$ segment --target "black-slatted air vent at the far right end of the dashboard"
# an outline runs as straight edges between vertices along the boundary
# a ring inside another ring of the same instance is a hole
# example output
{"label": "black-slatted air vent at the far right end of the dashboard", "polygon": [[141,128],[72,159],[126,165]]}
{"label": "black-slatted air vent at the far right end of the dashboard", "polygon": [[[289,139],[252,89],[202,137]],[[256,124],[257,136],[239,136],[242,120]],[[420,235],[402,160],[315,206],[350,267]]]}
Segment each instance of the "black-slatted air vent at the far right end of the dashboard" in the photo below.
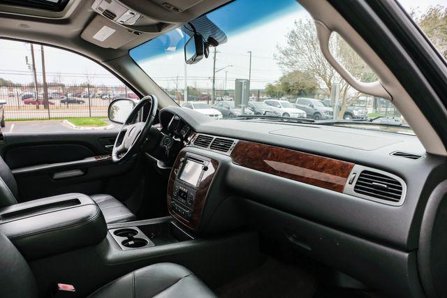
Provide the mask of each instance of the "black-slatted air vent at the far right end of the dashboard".
{"label": "black-slatted air vent at the far right end of the dashboard", "polygon": [[399,202],[402,198],[402,184],[387,175],[363,170],[354,186],[354,192],[380,200]]}

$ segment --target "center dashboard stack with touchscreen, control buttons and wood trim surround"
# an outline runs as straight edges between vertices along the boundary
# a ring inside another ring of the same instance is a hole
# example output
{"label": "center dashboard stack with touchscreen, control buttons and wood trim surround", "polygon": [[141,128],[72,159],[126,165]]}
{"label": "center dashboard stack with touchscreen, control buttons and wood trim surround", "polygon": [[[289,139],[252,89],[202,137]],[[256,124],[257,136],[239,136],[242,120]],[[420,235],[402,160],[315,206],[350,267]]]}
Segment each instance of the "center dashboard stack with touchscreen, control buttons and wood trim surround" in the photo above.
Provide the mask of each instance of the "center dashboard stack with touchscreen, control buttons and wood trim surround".
{"label": "center dashboard stack with touchscreen, control buttons and wood trim surround", "polygon": [[219,162],[191,152],[180,152],[168,182],[168,210],[195,230]]}

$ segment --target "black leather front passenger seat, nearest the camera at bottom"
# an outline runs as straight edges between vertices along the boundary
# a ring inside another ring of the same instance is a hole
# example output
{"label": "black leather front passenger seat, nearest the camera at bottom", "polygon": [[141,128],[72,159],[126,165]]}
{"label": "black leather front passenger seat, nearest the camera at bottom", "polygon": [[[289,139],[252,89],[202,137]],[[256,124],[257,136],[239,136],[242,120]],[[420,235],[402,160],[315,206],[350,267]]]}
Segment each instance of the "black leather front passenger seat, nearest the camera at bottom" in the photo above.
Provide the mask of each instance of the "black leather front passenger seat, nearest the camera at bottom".
{"label": "black leather front passenger seat, nearest the camera at bottom", "polygon": [[[0,297],[38,297],[36,280],[17,248],[0,233]],[[188,269],[159,263],[135,270],[94,292],[89,297],[216,297]]]}

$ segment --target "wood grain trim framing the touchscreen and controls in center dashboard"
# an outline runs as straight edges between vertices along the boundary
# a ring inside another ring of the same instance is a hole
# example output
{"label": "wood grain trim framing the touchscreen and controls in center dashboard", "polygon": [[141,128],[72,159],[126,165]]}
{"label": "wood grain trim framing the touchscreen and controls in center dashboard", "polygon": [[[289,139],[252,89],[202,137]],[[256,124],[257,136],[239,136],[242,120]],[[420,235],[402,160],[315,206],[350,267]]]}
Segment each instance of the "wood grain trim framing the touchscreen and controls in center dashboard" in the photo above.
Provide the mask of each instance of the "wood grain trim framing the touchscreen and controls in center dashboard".
{"label": "wood grain trim framing the touchscreen and controls in center dashboard", "polygon": [[214,174],[216,174],[217,167],[219,167],[219,162],[216,161],[215,159],[211,159],[211,162],[208,164],[208,169],[203,173],[202,181],[200,181],[200,184],[196,190],[196,198],[194,200],[194,207],[193,207],[193,216],[191,218],[191,221],[186,221],[181,216],[175,214],[170,205],[174,193],[175,169],[179,169],[180,159],[184,156],[186,156],[186,152],[182,151],[179,153],[177,159],[175,160],[173,170],[170,172],[168,182],[168,195],[167,195],[168,211],[170,215],[177,218],[178,221],[186,225],[188,228],[196,230],[196,228],[198,227],[198,223],[200,222],[200,216],[202,215],[203,207],[205,206],[207,193],[210,188],[212,179],[214,178]]}

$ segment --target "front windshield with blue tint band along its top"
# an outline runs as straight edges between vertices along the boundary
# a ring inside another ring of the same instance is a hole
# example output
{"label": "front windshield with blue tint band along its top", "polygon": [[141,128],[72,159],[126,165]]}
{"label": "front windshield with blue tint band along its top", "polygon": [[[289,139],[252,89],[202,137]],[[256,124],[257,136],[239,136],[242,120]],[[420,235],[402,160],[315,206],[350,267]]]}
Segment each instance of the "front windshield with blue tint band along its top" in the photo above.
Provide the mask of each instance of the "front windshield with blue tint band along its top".
{"label": "front windshield with blue tint band along its top", "polygon": [[[203,40],[214,38],[219,45],[209,47],[207,58],[186,64],[184,45],[194,29]],[[356,79],[378,80],[336,33],[330,38],[330,50]],[[251,114],[245,108],[249,103],[281,100],[280,109],[296,107],[316,125],[356,122],[351,127],[384,131],[390,131],[384,126],[407,127],[390,100],[358,92],[330,66],[319,50],[314,20],[295,0],[235,0],[134,47],[129,54],[179,105],[200,102],[219,110],[225,106],[215,104],[225,100],[241,114]],[[313,105],[300,105],[297,98],[309,98]],[[321,100],[327,100],[331,110],[318,109],[325,107]],[[221,112],[223,119],[234,118]],[[291,117],[286,111],[276,114]],[[250,121],[272,121],[253,116]],[[372,121],[377,125],[362,126]]]}

